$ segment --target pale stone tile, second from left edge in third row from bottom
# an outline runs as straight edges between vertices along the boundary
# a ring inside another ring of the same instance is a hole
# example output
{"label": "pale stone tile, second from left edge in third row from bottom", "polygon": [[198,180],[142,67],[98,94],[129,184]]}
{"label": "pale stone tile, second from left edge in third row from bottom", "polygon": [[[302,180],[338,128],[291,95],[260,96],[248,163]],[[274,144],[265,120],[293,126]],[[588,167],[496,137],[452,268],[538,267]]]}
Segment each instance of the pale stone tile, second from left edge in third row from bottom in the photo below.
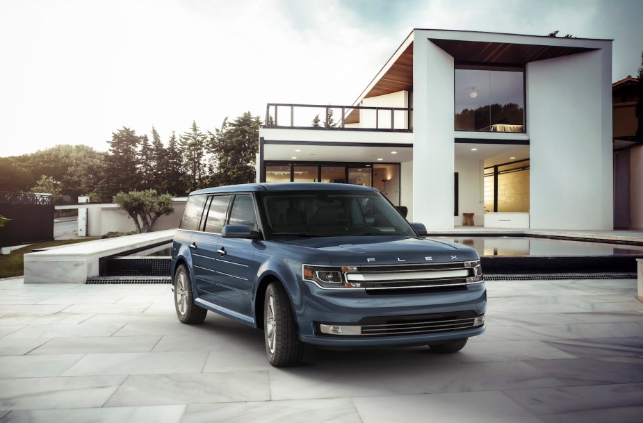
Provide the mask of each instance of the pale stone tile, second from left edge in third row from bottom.
{"label": "pale stone tile, second from left edge in third row from bottom", "polygon": [[206,352],[87,354],[63,376],[200,373]]}

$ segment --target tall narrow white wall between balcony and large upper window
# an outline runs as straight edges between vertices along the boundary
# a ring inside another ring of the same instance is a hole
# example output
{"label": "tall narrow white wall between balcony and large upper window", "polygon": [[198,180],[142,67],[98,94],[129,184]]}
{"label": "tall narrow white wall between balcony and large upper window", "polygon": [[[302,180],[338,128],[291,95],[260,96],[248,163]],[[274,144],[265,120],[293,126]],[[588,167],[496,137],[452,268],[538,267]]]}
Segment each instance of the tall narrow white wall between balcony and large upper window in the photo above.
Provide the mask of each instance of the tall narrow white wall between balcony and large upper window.
{"label": "tall narrow white wall between balcony and large upper window", "polygon": [[413,218],[453,229],[453,57],[416,31],[413,44]]}

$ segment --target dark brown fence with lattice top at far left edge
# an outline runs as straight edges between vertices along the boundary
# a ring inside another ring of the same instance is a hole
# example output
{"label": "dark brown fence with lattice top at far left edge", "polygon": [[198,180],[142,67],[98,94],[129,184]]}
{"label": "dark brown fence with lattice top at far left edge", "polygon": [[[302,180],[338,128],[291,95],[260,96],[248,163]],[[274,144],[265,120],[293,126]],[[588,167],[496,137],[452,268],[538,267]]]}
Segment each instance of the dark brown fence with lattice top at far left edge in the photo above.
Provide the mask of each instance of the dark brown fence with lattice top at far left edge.
{"label": "dark brown fence with lattice top at far left edge", "polygon": [[51,195],[0,191],[0,215],[11,219],[0,228],[0,247],[54,239]]}

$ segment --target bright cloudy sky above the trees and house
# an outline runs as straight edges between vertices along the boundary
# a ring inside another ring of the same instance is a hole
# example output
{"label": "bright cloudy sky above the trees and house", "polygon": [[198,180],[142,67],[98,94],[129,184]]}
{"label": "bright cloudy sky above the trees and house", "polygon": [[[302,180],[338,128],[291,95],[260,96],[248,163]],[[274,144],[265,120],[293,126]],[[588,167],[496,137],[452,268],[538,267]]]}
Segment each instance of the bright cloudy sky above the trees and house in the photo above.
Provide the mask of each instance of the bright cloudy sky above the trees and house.
{"label": "bright cloudy sky above the trees and house", "polygon": [[352,104],[413,28],[612,39],[618,81],[641,22],[643,0],[0,0],[0,157]]}

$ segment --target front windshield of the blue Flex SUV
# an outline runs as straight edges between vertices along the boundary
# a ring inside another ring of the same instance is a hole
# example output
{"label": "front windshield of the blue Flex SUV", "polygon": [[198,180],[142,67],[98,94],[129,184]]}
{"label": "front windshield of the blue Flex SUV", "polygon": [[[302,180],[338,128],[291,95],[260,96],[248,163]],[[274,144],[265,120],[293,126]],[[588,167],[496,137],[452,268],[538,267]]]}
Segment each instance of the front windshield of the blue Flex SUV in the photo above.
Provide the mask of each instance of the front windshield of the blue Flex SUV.
{"label": "front windshield of the blue Flex SUV", "polygon": [[268,237],[416,235],[379,192],[263,192],[260,198]]}

